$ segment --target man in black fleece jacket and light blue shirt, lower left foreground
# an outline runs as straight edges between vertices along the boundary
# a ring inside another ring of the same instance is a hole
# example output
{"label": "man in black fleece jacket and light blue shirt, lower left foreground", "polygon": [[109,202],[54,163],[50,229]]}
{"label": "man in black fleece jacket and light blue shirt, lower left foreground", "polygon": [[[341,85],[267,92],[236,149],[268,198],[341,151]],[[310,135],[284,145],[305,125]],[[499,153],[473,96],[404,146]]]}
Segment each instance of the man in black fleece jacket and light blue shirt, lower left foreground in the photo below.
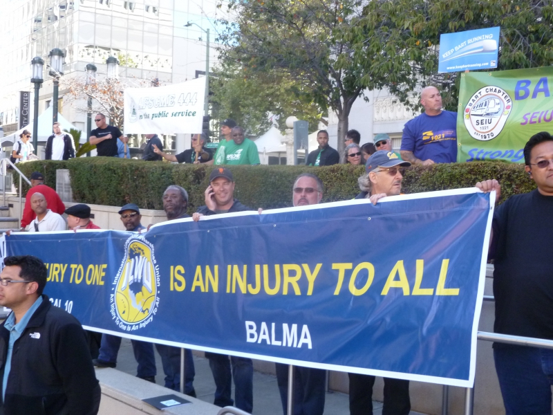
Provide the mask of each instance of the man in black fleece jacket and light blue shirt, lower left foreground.
{"label": "man in black fleece jacket and light blue shirt, lower left foreground", "polygon": [[81,324],[46,295],[46,266],[30,255],[6,257],[0,305],[0,413],[95,415],[100,385]]}

